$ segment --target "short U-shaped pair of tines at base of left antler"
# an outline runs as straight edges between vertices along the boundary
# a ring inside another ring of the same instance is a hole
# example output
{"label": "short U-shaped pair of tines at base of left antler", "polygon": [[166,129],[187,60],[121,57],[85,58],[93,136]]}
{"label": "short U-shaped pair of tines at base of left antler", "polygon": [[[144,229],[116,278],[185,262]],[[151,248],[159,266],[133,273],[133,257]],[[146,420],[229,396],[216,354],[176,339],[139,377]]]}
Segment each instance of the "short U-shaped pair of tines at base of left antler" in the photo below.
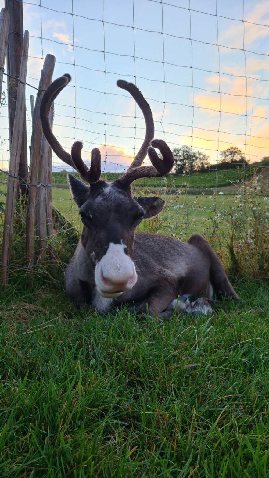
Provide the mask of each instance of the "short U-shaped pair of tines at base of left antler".
{"label": "short U-shaped pair of tines at base of left antler", "polygon": [[81,158],[82,147],[83,144],[80,141],[76,141],[71,149],[71,156],[75,169],[78,171],[81,179],[87,183],[97,183],[101,176],[101,153],[98,148],[92,150],[89,169]]}

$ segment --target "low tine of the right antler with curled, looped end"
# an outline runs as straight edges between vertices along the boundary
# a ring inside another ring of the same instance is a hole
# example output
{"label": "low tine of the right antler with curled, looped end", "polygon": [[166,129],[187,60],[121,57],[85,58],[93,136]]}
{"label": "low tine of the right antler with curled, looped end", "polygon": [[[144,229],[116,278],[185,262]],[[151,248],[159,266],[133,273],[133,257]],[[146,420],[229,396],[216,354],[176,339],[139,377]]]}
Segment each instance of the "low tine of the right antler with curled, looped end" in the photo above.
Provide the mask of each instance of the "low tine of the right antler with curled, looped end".
{"label": "low tine of the right antler with curled, looped end", "polygon": [[165,176],[165,174],[168,174],[171,171],[174,165],[174,157],[167,143],[163,140],[153,140],[151,145],[160,151],[163,159],[158,157],[157,152],[153,147],[148,148],[147,153],[152,166],[140,166],[133,169],[129,168],[121,178],[114,181],[115,184],[130,185],[136,179]]}

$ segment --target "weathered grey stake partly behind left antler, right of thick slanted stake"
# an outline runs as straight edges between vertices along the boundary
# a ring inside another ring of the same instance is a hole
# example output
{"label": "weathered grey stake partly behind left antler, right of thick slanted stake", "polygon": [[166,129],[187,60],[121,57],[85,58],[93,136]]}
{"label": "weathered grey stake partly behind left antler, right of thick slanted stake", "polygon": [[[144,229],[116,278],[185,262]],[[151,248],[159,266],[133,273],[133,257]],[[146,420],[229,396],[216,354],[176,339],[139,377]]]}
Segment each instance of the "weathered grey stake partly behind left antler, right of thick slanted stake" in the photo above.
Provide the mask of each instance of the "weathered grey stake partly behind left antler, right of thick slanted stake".
{"label": "weathered grey stake partly behind left antler, right of thick slanted stake", "polygon": [[[49,122],[52,126],[53,121],[53,106],[49,112]],[[50,155],[50,161],[49,161]],[[50,164],[49,164],[50,163]],[[51,147],[44,134],[42,135],[41,148],[40,148],[40,160],[39,160],[39,174],[38,179],[40,181],[40,187],[36,193],[36,235],[39,237],[38,259],[41,259],[45,252],[45,239],[48,236],[47,226],[47,206],[48,204],[48,190],[51,192],[51,182],[48,183],[48,171],[51,169]],[[50,174],[51,178],[51,174]],[[50,207],[52,209],[52,207]],[[52,212],[51,212],[52,215]]]}

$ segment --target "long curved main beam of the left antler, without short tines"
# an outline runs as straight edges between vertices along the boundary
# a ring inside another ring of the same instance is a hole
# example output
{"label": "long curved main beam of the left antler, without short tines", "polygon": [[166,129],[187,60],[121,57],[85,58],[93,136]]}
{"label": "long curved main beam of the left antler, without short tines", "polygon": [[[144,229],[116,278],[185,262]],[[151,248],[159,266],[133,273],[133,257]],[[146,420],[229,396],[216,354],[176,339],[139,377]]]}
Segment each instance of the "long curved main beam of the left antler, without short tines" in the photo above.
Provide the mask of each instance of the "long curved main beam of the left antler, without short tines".
{"label": "long curved main beam of the left antler, without short tines", "polygon": [[41,105],[40,105],[40,119],[41,119],[44,136],[46,140],[49,142],[55,154],[57,154],[57,156],[64,163],[67,163],[68,166],[71,166],[72,168],[76,169],[72,161],[71,155],[68,152],[66,152],[60,145],[59,141],[56,140],[56,137],[54,136],[52,132],[49,118],[48,118],[49,111],[53,101],[58,96],[58,94],[62,91],[62,89],[68,85],[69,81],[71,81],[71,76],[68,73],[66,73],[63,76],[60,76],[60,78],[57,78],[46,89],[41,101]]}

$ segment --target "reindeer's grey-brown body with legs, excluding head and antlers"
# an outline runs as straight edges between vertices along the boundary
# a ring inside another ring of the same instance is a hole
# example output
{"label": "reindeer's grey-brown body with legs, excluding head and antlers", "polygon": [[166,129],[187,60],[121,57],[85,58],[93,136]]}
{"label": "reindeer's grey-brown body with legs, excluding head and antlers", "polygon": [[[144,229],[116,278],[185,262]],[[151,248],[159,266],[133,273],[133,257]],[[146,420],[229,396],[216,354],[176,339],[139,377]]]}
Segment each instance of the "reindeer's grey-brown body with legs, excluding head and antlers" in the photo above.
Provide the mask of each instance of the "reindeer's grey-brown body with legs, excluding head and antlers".
{"label": "reindeer's grey-brown body with legs, excluding head and antlers", "polygon": [[[132,260],[138,276],[136,284],[113,300],[103,299],[109,301],[106,310],[119,304],[138,303],[140,311],[168,318],[174,310],[169,305],[179,295],[212,299],[213,293],[219,293],[238,299],[221,262],[202,236],[194,235],[189,242],[181,242],[157,234],[135,233]],[[79,241],[65,276],[67,294],[79,305],[94,302],[94,267]],[[200,307],[203,314],[204,305],[211,312],[210,305],[202,300],[196,304],[189,302],[185,312],[194,314]],[[181,308],[177,312],[182,311]]]}

